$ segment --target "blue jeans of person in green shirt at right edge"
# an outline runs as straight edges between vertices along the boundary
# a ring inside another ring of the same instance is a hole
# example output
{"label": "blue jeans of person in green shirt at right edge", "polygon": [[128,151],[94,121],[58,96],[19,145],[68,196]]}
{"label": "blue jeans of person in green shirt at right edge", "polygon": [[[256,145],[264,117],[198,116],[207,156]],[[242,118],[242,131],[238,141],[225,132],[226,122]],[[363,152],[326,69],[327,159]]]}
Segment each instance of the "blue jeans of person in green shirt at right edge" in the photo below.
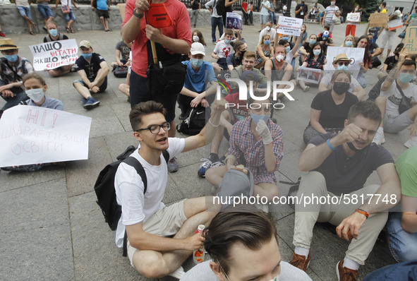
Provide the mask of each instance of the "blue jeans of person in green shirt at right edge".
{"label": "blue jeans of person in green shirt at right edge", "polygon": [[389,213],[387,221],[389,250],[399,263],[417,259],[417,232],[409,233],[401,227],[401,212]]}

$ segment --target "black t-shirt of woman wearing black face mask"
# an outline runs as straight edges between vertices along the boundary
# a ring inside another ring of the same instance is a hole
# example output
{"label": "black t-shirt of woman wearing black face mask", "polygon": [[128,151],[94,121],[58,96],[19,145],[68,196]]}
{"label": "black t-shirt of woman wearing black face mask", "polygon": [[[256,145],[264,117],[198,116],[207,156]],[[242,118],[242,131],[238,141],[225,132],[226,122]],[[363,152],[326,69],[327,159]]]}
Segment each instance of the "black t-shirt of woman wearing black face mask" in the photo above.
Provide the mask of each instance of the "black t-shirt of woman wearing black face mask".
{"label": "black t-shirt of woman wearing black face mask", "polygon": [[346,92],[341,104],[334,103],[332,90],[325,90],[315,95],[311,108],[321,110],[319,123],[323,128],[343,128],[349,109],[359,102],[358,97],[351,92]]}

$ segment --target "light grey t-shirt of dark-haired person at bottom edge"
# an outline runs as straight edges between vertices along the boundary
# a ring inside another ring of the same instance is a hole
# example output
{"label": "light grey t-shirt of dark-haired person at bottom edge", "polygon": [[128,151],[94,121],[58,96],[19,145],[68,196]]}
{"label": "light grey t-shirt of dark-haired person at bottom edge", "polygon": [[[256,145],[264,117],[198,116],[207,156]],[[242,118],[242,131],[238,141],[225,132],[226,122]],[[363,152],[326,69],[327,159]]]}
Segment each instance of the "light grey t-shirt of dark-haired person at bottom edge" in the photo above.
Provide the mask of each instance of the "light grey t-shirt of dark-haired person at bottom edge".
{"label": "light grey t-shirt of dark-haired person at bottom edge", "polygon": [[[219,281],[212,272],[210,261],[195,265],[181,278],[180,281]],[[281,274],[279,281],[310,281],[311,278],[303,270],[296,268],[285,261],[281,262]]]}

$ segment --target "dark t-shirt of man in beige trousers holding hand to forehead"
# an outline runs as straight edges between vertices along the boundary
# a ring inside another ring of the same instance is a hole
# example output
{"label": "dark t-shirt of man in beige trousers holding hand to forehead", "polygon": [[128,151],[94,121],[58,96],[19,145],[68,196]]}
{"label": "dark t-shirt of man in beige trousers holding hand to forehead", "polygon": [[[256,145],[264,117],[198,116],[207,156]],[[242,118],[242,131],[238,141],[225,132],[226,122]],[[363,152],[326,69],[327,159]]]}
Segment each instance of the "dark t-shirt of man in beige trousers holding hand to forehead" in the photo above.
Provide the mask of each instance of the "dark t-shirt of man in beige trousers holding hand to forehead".
{"label": "dark t-shirt of man in beige trousers holding hand to forehead", "polygon": [[[333,136],[334,133],[320,133],[309,143],[318,146]],[[340,196],[342,193],[362,189],[370,174],[387,163],[394,163],[394,159],[381,145],[370,143],[353,157],[348,157],[344,153],[343,145],[339,145],[322,165],[313,171],[320,172],[325,177],[327,191]]]}

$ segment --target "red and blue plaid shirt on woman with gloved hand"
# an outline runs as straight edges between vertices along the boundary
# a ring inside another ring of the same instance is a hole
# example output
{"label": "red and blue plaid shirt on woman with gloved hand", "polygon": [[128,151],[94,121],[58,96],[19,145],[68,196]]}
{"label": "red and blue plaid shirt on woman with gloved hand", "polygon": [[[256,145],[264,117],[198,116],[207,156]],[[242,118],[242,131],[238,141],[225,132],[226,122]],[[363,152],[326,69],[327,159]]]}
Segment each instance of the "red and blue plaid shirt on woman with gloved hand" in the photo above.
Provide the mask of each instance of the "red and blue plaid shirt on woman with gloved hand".
{"label": "red and blue plaid shirt on woman with gloved hand", "polygon": [[[256,141],[255,136],[250,131],[251,118],[238,121],[231,128],[230,132],[230,147],[229,155],[234,155],[237,160],[244,157],[246,160],[246,167],[253,173],[255,184],[260,182],[277,183],[274,172],[268,172],[265,166],[265,148],[262,139]],[[276,170],[279,168],[282,156],[284,155],[284,142],[281,127],[269,122],[273,150],[275,159],[277,160]],[[236,163],[239,164],[239,163]],[[273,182],[271,182],[273,180]]]}

